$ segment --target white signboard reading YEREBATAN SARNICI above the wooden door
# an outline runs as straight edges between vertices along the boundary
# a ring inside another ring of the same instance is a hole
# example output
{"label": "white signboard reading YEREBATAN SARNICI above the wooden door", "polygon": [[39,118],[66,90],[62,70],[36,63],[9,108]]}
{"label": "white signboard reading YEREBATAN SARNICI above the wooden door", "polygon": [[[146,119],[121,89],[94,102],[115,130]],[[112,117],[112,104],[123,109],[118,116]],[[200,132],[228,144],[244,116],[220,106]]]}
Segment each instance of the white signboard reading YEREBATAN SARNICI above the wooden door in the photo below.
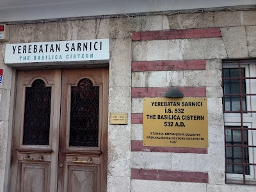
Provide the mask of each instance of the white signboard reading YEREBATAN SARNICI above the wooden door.
{"label": "white signboard reading YEREBATAN SARNICI above the wooden door", "polygon": [[6,44],[4,63],[109,60],[109,39]]}

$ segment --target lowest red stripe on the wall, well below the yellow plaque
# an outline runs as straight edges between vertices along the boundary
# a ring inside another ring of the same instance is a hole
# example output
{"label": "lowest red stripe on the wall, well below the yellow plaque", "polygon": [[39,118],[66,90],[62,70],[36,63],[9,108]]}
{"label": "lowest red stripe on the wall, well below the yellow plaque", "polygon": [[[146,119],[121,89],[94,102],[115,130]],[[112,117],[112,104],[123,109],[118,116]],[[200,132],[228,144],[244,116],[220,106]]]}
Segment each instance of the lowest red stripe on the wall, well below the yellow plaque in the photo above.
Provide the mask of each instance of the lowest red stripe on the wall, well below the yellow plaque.
{"label": "lowest red stripe on the wall, well below the yellow plaque", "polygon": [[179,182],[209,182],[208,173],[182,172],[173,170],[147,170],[131,168],[131,179],[141,180],[168,180]]}

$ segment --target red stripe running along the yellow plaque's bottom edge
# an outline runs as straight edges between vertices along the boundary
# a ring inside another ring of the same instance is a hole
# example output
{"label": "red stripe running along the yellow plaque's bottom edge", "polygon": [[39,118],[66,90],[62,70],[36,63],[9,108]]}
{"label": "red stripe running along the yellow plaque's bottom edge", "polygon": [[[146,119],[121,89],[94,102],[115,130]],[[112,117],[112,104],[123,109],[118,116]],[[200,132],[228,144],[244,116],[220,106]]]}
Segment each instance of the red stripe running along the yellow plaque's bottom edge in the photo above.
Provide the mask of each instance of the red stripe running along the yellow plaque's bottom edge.
{"label": "red stripe running along the yellow plaque's bottom edge", "polygon": [[143,141],[131,141],[131,151],[143,152],[169,152],[184,154],[207,154],[207,148],[189,148],[189,147],[150,147],[143,146]]}

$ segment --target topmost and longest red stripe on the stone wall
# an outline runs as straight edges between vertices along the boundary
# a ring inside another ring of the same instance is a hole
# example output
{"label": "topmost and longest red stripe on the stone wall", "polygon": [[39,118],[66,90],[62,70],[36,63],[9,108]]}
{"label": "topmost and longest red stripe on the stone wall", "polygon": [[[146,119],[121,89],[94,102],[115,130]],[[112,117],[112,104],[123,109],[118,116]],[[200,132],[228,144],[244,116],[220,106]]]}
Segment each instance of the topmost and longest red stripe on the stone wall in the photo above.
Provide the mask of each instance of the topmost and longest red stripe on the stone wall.
{"label": "topmost and longest red stripe on the stone wall", "polygon": [[140,31],[132,33],[132,40],[170,40],[184,38],[221,37],[220,28],[178,29],[166,31]]}

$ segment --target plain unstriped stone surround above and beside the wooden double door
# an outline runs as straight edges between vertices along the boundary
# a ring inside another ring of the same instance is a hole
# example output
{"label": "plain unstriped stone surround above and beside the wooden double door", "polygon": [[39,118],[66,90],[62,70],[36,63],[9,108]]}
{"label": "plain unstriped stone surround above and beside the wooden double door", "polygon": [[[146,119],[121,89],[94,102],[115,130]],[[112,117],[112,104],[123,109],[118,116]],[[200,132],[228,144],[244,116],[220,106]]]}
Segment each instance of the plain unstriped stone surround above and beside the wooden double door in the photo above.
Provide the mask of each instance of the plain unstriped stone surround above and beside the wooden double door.
{"label": "plain unstriped stone surround above and beside the wooden double door", "polygon": [[10,25],[10,42],[0,42],[0,68],[4,69],[0,84],[0,191],[8,191],[10,186],[11,95],[15,93],[15,68],[4,64],[5,45],[95,38],[110,39],[108,113],[128,114],[128,125],[108,125],[108,191],[131,190],[131,31],[134,30],[140,31],[140,24],[127,18]]}

